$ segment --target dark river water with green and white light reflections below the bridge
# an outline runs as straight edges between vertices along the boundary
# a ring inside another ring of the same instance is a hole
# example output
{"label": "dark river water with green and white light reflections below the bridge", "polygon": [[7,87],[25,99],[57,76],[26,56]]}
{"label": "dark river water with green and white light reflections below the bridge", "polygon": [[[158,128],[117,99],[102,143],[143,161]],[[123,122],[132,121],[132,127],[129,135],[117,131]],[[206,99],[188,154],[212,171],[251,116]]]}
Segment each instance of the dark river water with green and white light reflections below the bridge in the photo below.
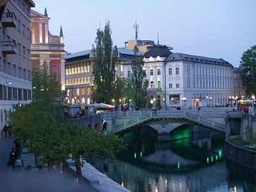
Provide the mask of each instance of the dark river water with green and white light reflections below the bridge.
{"label": "dark river water with green and white light reflections below the bridge", "polygon": [[128,147],[118,161],[95,166],[131,191],[256,191],[253,180],[234,173],[229,162],[233,170],[227,170],[220,132],[195,125],[153,136],[147,130],[148,136],[136,130],[125,134]]}

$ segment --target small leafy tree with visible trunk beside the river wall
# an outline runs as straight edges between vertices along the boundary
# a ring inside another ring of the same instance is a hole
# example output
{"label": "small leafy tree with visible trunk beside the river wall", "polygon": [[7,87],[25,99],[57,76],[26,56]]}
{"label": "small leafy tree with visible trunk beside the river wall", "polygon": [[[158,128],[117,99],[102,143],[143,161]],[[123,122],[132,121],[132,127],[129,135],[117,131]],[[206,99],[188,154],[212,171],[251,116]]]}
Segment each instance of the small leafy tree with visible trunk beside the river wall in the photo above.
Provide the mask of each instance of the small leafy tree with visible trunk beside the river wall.
{"label": "small leafy tree with visible trunk beside the river wall", "polygon": [[125,148],[116,134],[105,136],[101,132],[80,128],[75,124],[69,124],[68,130],[70,130],[70,138],[67,140],[67,147],[76,164],[79,180],[82,180],[81,166],[85,161],[96,161],[99,157],[115,159],[115,154]]}

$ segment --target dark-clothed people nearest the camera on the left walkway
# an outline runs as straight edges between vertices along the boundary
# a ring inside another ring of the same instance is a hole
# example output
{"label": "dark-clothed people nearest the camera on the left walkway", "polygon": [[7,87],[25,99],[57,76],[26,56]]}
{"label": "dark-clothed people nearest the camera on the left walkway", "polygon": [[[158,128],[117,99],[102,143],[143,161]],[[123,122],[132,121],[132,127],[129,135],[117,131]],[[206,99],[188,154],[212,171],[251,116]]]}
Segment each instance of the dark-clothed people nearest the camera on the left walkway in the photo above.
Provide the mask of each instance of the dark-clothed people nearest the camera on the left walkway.
{"label": "dark-clothed people nearest the camera on the left walkway", "polygon": [[15,170],[16,168],[17,170],[20,170],[20,168],[22,168],[23,166],[22,160],[20,159],[21,145],[19,140],[17,139],[15,139],[13,143],[15,144],[15,147],[13,147],[10,152],[7,166],[8,167],[12,166],[12,170]]}

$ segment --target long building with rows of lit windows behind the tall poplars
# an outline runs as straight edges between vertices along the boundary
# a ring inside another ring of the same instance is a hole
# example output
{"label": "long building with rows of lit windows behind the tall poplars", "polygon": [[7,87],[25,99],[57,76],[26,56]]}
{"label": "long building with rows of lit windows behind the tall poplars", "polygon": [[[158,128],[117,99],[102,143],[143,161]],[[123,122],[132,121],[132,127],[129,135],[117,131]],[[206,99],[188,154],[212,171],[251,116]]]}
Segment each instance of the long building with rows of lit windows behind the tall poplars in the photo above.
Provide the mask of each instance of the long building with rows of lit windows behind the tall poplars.
{"label": "long building with rows of lit windows behind the tall poplars", "polygon": [[[131,63],[134,52],[118,48],[116,76],[124,77],[125,63]],[[65,58],[65,77],[68,104],[90,104],[92,102],[92,50],[76,52]]]}

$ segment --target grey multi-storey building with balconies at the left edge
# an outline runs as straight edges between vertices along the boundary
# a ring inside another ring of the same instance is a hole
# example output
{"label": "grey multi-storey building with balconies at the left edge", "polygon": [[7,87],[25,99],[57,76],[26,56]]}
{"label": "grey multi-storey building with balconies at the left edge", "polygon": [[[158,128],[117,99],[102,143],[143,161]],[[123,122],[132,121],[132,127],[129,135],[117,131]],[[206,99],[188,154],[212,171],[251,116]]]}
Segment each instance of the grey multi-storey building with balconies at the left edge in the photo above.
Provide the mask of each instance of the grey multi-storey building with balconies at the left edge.
{"label": "grey multi-storey building with balconies at the left edge", "polygon": [[0,22],[0,129],[8,112],[31,102],[31,32],[29,0],[6,3]]}

